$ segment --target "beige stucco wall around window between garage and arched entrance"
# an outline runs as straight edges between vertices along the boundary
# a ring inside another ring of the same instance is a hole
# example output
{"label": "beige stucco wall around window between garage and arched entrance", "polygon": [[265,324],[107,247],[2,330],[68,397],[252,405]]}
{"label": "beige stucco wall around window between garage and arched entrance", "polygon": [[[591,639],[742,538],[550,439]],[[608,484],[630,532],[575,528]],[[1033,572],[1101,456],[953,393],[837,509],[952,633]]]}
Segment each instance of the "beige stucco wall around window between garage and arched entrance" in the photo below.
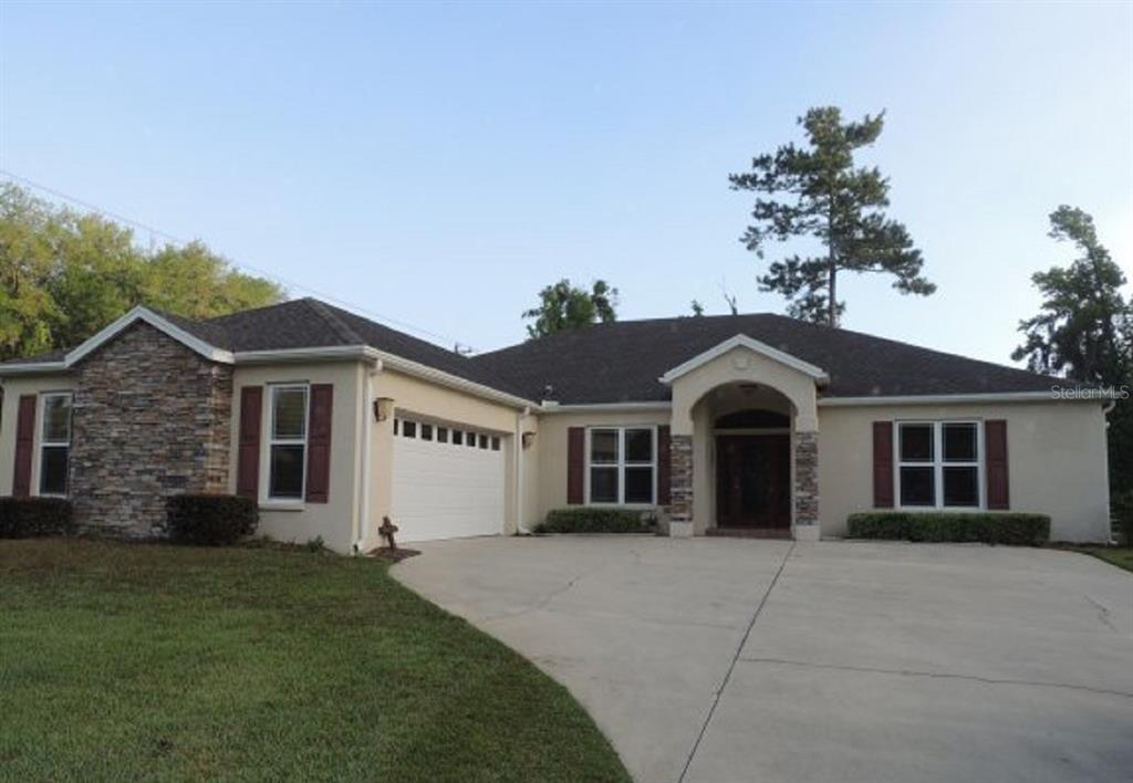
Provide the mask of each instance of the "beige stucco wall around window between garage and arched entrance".
{"label": "beige stucco wall around window between garage and arched entrance", "polygon": [[547,511],[566,505],[566,432],[571,427],[598,427],[668,424],[668,410],[634,410],[546,414],[539,418],[539,434],[536,437],[537,470],[530,475],[536,477],[534,487],[536,502],[531,510],[534,517],[525,520],[533,525],[543,521]]}

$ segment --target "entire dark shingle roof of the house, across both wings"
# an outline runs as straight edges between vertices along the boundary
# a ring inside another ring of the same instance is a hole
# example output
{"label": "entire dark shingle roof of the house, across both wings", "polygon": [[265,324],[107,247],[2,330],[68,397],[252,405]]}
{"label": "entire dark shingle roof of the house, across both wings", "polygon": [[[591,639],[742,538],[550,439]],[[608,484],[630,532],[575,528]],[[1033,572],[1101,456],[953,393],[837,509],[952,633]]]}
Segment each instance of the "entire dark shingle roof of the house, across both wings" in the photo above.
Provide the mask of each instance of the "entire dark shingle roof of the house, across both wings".
{"label": "entire dark shingle roof of the house, across both wings", "polygon": [[[233,352],[366,344],[499,391],[562,405],[667,400],[670,390],[658,377],[736,334],[826,371],[825,397],[1048,391],[1051,383],[1021,369],[766,313],[596,324],[476,357],[309,298],[207,321],[162,316]],[[15,361],[60,360],[65,354]]]}

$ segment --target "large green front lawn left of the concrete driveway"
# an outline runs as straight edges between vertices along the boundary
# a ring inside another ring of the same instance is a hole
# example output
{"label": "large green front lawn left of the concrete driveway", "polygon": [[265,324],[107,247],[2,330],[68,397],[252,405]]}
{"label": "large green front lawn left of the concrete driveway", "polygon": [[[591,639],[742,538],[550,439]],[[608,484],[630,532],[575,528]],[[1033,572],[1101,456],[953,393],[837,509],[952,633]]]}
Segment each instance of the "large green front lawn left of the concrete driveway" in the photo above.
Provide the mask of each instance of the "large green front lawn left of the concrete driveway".
{"label": "large green front lawn left of the concrete driveway", "polygon": [[628,781],[564,688],[369,560],[0,542],[0,778]]}

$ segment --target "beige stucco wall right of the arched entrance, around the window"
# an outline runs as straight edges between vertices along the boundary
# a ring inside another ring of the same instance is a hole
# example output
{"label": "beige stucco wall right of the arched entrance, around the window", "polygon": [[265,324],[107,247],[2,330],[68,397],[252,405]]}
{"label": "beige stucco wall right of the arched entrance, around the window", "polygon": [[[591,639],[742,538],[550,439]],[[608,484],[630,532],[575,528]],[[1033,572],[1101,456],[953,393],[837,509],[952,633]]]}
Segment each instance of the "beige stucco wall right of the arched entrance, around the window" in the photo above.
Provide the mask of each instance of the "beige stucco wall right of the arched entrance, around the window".
{"label": "beige stucco wall right of the arched entrance, around the window", "polygon": [[1006,419],[1013,511],[1050,514],[1056,541],[1108,541],[1106,422],[1097,402],[819,407],[819,518],[824,536],[874,502],[872,423]]}

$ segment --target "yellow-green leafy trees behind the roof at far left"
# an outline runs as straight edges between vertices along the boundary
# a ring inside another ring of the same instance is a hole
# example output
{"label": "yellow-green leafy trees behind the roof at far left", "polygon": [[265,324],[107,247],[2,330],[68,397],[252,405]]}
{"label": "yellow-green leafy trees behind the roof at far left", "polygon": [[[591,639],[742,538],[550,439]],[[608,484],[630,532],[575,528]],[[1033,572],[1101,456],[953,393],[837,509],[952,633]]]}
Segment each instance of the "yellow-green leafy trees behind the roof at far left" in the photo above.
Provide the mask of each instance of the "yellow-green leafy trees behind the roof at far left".
{"label": "yellow-green leafy trees behind the roof at far left", "polygon": [[146,252],[113,221],[0,182],[0,359],[76,346],[138,304],[204,318],[283,298],[201,242]]}

